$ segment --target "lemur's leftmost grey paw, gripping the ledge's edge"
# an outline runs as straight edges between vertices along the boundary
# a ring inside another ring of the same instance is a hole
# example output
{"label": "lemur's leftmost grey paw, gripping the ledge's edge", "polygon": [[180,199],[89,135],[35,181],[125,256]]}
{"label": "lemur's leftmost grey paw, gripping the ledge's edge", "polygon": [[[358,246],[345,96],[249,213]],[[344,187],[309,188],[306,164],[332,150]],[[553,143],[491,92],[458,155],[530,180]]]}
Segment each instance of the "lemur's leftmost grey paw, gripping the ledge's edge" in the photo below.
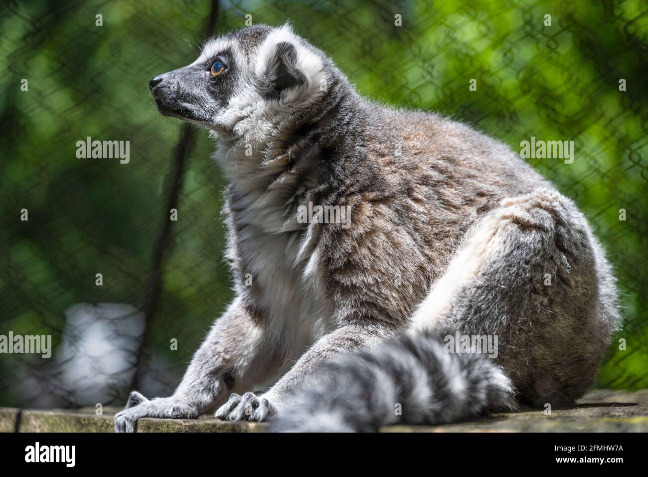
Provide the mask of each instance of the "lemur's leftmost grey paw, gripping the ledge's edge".
{"label": "lemur's leftmost grey paw, gripping the ledge's edge", "polygon": [[198,417],[198,410],[173,397],[150,400],[137,391],[132,391],[124,410],[115,414],[115,432],[135,432],[135,424],[142,417],[194,419]]}

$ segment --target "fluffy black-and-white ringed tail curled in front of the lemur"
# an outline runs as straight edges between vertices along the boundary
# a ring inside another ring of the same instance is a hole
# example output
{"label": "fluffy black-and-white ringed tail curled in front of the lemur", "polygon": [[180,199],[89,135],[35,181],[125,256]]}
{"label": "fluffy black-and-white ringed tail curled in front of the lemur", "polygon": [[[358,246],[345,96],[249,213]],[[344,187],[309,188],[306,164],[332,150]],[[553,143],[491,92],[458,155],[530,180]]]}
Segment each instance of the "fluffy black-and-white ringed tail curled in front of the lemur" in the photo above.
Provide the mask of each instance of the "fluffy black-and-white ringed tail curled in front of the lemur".
{"label": "fluffy black-and-white ringed tail curled in front of the lemur", "polygon": [[449,353],[438,334],[401,336],[322,365],[272,432],[372,432],[515,408],[513,385],[480,353]]}

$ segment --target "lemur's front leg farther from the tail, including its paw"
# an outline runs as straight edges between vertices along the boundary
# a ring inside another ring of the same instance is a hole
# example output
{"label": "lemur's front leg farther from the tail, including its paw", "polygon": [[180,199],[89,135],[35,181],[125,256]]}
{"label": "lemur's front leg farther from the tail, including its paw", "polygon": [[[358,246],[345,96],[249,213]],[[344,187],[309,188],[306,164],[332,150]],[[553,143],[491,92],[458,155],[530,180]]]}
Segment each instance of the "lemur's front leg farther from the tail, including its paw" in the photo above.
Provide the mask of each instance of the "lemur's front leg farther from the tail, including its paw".
{"label": "lemur's front leg farther from the tail, including its paw", "polygon": [[235,300],[216,320],[174,395],[147,399],[130,393],[115,415],[116,432],[134,432],[142,417],[195,418],[214,409],[231,391],[249,389],[276,371],[264,323]]}

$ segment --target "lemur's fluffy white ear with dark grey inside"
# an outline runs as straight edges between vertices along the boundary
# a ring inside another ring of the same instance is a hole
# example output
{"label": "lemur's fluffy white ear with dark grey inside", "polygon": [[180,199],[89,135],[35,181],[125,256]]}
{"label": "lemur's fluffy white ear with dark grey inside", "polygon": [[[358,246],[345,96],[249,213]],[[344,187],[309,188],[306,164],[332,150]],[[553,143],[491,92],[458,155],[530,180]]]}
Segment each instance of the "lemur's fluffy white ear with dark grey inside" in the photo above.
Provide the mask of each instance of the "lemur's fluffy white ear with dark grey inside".
{"label": "lemur's fluffy white ear with dark grey inside", "polygon": [[268,35],[256,63],[263,97],[294,106],[316,98],[324,82],[321,57],[284,25]]}

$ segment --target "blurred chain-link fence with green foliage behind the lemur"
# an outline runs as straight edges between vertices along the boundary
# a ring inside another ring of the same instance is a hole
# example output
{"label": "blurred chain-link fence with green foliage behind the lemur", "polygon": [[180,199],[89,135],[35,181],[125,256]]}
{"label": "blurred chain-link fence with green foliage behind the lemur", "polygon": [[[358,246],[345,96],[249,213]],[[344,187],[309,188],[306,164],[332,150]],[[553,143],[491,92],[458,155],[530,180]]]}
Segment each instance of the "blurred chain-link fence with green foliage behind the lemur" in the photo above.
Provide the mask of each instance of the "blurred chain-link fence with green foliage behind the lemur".
{"label": "blurred chain-link fence with green foliage behind the lemur", "polygon": [[[0,405],[121,405],[128,389],[178,384],[231,299],[225,182],[207,134],[160,117],[148,79],[246,19],[292,21],[373,99],[515,150],[573,140],[572,164],[529,162],[579,203],[616,267],[624,327],[599,384],[647,387],[648,5],[579,4],[5,3],[0,335],[51,336],[52,356],[0,354]],[[128,163],[79,158],[87,138],[130,141]]]}

